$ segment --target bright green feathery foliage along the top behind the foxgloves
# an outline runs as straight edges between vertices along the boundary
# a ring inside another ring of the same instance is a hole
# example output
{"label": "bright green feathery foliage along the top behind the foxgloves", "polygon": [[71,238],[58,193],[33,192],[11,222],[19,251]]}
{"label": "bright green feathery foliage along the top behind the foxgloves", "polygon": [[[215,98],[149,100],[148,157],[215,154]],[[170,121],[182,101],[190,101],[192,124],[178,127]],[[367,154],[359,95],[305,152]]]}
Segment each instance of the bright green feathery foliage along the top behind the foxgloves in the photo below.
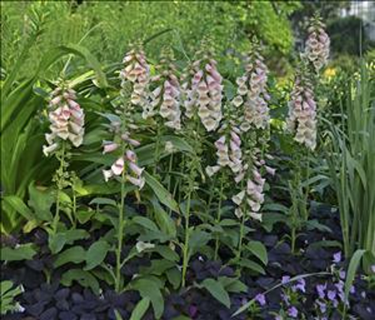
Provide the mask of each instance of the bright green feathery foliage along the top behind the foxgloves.
{"label": "bright green feathery foliage along the top behind the foxgloves", "polygon": [[[204,36],[218,53],[247,50],[257,35],[273,55],[291,52],[288,16],[298,2],[1,2],[1,67],[6,71],[20,53],[35,24],[41,33],[20,76],[30,74],[43,54],[57,45],[80,44],[102,63],[120,61],[130,42],[172,29],[152,41],[147,52],[159,56],[163,45],[192,58]],[[51,72],[61,70],[63,62]],[[75,68],[74,64],[71,68]]]}

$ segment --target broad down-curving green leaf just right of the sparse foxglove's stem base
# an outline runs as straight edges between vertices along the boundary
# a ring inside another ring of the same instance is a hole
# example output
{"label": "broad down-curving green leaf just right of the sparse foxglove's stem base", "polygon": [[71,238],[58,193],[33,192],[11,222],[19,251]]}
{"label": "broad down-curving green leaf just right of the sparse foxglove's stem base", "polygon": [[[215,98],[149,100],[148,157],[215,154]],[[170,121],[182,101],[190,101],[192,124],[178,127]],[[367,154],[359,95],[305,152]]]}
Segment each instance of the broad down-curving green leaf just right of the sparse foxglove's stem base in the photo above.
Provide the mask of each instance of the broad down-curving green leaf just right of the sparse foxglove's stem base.
{"label": "broad down-curving green leaf just right of the sparse foxglove's stem base", "polygon": [[159,285],[151,279],[136,279],[132,288],[138,290],[142,298],[148,297],[154,309],[155,318],[159,319],[164,311],[164,300]]}

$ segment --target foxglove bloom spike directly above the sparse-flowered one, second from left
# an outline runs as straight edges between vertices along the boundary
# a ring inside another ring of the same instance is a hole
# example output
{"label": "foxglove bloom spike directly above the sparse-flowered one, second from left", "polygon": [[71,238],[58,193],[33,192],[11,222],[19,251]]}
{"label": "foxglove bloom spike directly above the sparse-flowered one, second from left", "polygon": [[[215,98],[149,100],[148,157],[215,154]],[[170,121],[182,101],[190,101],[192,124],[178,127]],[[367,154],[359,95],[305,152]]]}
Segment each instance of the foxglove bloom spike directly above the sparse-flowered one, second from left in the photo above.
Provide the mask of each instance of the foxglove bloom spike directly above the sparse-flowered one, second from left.
{"label": "foxglove bloom spike directly above the sparse-flowered one, second from left", "polygon": [[148,84],[150,82],[150,66],[142,50],[132,49],[125,54],[124,68],[120,72],[121,86],[127,81],[133,84],[131,102],[142,107],[144,118],[153,115],[152,105],[148,103]]}

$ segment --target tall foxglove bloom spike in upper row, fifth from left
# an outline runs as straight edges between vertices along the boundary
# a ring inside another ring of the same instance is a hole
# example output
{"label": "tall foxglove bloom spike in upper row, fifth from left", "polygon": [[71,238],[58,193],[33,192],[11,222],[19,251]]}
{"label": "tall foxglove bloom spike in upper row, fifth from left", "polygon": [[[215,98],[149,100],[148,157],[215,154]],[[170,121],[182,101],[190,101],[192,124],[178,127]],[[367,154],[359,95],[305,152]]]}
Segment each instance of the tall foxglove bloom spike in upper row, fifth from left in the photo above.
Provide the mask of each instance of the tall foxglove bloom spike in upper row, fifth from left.
{"label": "tall foxglove bloom spike in upper row, fifth from left", "polygon": [[243,108],[240,128],[244,132],[248,131],[251,125],[257,129],[265,129],[270,120],[267,104],[270,96],[266,89],[268,69],[257,50],[246,57],[245,71],[245,74],[236,80],[237,96],[232,100],[235,107]]}

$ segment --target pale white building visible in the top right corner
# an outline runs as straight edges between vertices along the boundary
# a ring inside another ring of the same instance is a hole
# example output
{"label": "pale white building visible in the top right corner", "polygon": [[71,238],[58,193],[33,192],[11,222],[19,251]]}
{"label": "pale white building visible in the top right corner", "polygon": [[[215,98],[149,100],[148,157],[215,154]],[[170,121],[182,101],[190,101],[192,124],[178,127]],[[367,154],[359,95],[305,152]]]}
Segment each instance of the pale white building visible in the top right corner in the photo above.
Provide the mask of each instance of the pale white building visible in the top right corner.
{"label": "pale white building visible in the top right corner", "polygon": [[341,17],[353,15],[363,20],[366,35],[375,41],[375,1],[351,1],[347,8],[341,9]]}

